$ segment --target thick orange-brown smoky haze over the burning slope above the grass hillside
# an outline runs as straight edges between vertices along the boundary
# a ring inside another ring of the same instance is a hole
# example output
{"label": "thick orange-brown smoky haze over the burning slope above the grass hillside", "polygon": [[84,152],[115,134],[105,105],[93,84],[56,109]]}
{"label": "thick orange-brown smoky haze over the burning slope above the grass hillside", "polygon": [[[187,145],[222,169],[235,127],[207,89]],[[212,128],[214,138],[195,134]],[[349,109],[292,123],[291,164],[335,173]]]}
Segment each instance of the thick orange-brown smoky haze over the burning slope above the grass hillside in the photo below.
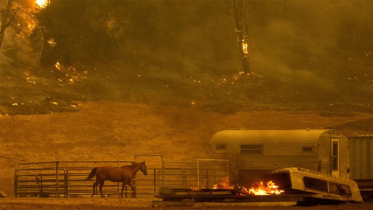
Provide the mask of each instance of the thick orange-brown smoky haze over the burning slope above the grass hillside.
{"label": "thick orange-brown smoky haze over the burning slope above the grass hillside", "polygon": [[[249,72],[242,70],[232,1],[52,0],[36,17],[45,41],[57,44],[45,44],[42,70],[30,72],[53,82],[46,88],[36,79],[32,88],[157,104],[372,102],[372,1],[247,2]],[[4,40],[12,50],[14,28]],[[0,58],[2,75],[24,72],[23,56],[3,49]]]}

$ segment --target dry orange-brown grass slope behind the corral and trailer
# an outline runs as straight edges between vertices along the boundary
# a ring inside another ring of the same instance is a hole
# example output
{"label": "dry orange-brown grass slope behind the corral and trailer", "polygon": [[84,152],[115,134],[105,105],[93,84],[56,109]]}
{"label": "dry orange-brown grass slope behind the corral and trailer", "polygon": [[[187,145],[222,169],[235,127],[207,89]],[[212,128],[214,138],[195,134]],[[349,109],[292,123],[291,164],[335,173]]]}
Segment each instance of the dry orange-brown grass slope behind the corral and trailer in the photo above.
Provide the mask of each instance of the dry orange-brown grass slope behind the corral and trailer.
{"label": "dry orange-brown grass slope behind the corral and trailer", "polygon": [[132,160],[163,154],[165,161],[208,158],[211,136],[224,129],[340,128],[373,134],[373,114],[325,116],[317,112],[245,111],[222,114],[197,107],[88,102],[77,112],[0,117],[0,183],[13,195],[16,163],[55,160]]}

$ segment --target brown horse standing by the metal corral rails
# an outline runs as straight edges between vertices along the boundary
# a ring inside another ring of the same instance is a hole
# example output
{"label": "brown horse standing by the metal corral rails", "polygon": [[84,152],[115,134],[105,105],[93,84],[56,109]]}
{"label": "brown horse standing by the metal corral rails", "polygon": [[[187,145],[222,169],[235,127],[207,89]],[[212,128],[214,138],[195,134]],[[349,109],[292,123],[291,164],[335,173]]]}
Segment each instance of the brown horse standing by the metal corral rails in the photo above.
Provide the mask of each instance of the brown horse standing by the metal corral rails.
{"label": "brown horse standing by the metal corral rails", "polygon": [[121,167],[102,166],[93,168],[87,178],[87,180],[91,180],[96,175],[96,182],[93,183],[93,193],[91,197],[93,197],[93,195],[95,194],[95,190],[97,189],[98,184],[100,184],[101,197],[104,197],[104,195],[102,194],[102,186],[104,185],[105,180],[109,180],[112,182],[122,182],[122,191],[120,193],[120,197],[123,198],[123,189],[126,184],[131,187],[134,192],[134,196],[136,197],[136,189],[133,187],[132,179],[139,170],[143,172],[144,175],[148,174],[145,161]]}

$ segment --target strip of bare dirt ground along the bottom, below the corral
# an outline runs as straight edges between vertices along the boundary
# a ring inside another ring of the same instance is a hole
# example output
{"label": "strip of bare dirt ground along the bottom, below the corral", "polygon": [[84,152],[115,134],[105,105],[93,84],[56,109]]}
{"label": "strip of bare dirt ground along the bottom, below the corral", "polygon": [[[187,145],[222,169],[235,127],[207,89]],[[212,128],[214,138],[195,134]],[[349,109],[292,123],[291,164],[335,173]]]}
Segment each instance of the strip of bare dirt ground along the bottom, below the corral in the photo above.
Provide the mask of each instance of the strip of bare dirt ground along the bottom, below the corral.
{"label": "strip of bare dirt ground along the bottom, below the corral", "polygon": [[[339,205],[300,206],[290,203],[193,203],[161,202],[156,198],[102,199],[102,198],[4,198],[0,210],[104,210],[104,209],[255,209],[255,210],[372,210],[373,202],[344,203]],[[260,206],[266,205],[266,206]]]}

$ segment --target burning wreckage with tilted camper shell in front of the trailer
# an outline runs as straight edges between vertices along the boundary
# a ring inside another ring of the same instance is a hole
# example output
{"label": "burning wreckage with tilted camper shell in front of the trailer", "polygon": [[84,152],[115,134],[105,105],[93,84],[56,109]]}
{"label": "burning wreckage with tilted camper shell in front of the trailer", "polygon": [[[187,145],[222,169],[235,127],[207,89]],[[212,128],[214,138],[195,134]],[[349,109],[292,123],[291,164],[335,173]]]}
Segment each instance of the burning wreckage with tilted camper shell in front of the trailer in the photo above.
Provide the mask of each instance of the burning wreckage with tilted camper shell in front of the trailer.
{"label": "burning wreckage with tilted camper shell in front of the trailer", "polygon": [[303,168],[272,171],[263,182],[249,190],[244,186],[230,186],[227,183],[222,183],[214,189],[162,187],[156,197],[162,198],[163,201],[195,202],[363,201],[355,181]]}

